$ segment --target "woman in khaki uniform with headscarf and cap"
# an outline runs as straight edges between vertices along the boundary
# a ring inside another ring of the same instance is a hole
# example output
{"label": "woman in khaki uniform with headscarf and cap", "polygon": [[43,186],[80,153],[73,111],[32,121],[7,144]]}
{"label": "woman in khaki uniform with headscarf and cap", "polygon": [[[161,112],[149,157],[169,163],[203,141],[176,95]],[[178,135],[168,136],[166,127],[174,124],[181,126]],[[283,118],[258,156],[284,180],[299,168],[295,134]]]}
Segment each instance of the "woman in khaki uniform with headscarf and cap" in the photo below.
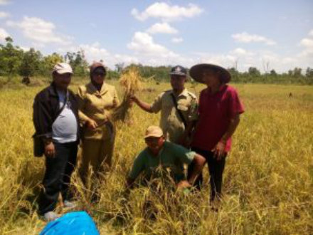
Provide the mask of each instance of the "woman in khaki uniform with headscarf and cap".
{"label": "woman in khaki uniform with headscarf and cap", "polygon": [[80,176],[84,184],[90,167],[99,177],[112,164],[115,127],[111,115],[119,100],[115,87],[105,83],[106,74],[102,63],[92,63],[90,83],[78,88],[79,117],[83,123]]}

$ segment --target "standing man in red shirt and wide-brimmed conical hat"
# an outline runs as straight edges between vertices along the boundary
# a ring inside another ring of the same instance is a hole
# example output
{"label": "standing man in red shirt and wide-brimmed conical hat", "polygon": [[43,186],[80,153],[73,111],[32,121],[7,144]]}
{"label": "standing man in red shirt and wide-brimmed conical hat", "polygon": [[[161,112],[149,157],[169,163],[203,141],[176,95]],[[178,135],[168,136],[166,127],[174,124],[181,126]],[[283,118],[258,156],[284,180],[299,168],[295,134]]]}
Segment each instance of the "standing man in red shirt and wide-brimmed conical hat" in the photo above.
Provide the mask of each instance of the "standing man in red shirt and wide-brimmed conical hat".
{"label": "standing man in red shirt and wide-brimmed conical hat", "polygon": [[[223,170],[230,151],[231,136],[244,110],[235,88],[227,85],[230,73],[225,68],[203,63],[193,66],[189,73],[191,78],[207,85],[200,94],[191,149],[206,157],[208,162],[212,202],[216,197],[221,197]],[[192,168],[191,165],[188,172]],[[202,181],[201,174],[196,181],[198,188]]]}

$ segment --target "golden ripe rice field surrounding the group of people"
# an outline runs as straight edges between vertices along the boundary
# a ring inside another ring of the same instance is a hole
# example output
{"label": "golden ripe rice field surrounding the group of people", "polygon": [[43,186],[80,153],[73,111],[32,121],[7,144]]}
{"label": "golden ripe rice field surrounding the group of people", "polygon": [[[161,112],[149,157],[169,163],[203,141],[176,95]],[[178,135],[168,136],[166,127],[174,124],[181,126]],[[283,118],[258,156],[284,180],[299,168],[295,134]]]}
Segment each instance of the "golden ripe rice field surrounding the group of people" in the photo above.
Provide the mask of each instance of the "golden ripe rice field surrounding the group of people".
{"label": "golden ripe rice field surrounding the group of people", "polygon": [[[73,90],[85,82],[74,78]],[[119,83],[113,85],[122,98]],[[170,88],[142,86],[139,98],[147,102]],[[196,93],[203,88],[186,86]],[[208,185],[191,194],[166,182],[156,182],[157,189],[124,190],[132,161],[145,146],[144,130],[159,122],[159,115],[134,105],[132,122],[117,123],[113,167],[96,182],[99,203],[91,203],[92,192],[73,175],[78,209],[89,212],[101,234],[313,234],[313,87],[234,86],[245,113],[226,160],[219,211],[208,207]],[[36,212],[44,159],[33,157],[31,140],[33,98],[43,87],[0,89],[0,234],[38,234],[46,224]],[[65,212],[61,206],[57,211]]]}

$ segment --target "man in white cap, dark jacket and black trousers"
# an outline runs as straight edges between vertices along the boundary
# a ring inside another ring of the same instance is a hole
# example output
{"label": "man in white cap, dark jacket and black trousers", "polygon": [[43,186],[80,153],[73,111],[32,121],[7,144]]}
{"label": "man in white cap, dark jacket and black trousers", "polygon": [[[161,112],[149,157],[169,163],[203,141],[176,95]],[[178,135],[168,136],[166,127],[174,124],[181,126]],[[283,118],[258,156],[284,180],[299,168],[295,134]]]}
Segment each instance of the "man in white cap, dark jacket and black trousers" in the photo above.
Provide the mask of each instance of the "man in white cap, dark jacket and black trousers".
{"label": "man in white cap, dark jacket and black trousers", "polygon": [[39,214],[47,221],[58,217],[53,210],[59,194],[65,207],[74,206],[70,202],[69,184],[76,164],[79,122],[75,94],[68,90],[72,74],[68,63],[57,63],[52,72],[53,82],[36,95],[33,103],[34,155],[46,156]]}

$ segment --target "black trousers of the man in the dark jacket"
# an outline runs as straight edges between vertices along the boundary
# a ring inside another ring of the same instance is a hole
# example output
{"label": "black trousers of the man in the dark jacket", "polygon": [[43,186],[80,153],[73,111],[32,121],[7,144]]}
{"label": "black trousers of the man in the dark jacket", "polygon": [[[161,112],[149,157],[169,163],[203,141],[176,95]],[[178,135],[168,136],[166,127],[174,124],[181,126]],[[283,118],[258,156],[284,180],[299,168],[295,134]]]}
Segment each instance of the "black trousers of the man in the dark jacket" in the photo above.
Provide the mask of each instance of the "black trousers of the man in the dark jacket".
{"label": "black trousers of the man in the dark jacket", "polygon": [[61,194],[63,201],[71,199],[69,192],[70,175],[76,165],[78,143],[54,143],[55,157],[46,157],[46,172],[43,190],[39,196],[39,213],[45,214],[55,209]]}

